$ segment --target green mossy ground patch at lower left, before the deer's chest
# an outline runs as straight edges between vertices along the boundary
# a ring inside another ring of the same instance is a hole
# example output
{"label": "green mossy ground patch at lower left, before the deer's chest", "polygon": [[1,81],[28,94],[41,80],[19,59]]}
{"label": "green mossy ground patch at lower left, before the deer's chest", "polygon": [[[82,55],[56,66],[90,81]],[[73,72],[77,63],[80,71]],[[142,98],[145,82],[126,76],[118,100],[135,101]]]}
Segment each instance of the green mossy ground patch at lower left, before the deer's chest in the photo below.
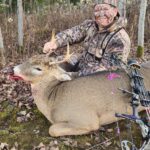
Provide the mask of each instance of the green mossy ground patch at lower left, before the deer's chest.
{"label": "green mossy ground patch at lower left, before the deer's chest", "polygon": [[[0,141],[6,142],[11,146],[15,142],[20,145],[20,149],[33,149],[33,146],[39,145],[41,141],[49,142],[48,128],[49,122],[46,118],[36,109],[33,108],[35,115],[34,120],[18,123],[17,113],[20,111],[18,108],[11,108],[11,105],[4,103],[5,109],[0,112]],[[36,134],[34,130],[39,130]]]}

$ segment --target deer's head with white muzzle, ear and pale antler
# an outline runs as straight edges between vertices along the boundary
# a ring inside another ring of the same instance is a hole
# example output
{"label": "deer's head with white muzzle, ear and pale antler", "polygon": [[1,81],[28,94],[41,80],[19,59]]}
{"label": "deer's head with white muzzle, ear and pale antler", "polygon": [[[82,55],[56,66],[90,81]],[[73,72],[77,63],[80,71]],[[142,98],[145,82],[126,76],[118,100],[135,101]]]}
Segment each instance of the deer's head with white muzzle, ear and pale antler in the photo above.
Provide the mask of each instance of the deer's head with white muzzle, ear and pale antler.
{"label": "deer's head with white muzzle, ear and pale antler", "polygon": [[[67,52],[68,53],[68,52]],[[31,84],[42,79],[68,81],[72,79],[72,72],[67,72],[61,67],[68,59],[68,55],[63,60],[54,56],[36,55],[28,61],[14,68],[14,75],[23,78]]]}

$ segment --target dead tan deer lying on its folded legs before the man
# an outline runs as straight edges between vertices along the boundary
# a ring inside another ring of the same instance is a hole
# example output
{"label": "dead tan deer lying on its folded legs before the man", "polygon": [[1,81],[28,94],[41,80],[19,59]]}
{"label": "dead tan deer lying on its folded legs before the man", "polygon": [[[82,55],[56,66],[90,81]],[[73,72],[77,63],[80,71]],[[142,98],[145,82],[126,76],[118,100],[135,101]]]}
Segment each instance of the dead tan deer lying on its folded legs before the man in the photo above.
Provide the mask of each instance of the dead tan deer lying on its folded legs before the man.
{"label": "dead tan deer lying on its folded legs before the man", "polygon": [[[52,123],[51,136],[86,134],[115,122],[116,112],[131,113],[131,97],[118,90],[130,91],[124,71],[117,71],[120,77],[111,81],[107,71],[72,79],[63,63],[38,55],[14,68],[15,75],[30,81],[38,109]],[[150,61],[143,65],[141,74],[146,89],[150,89]]]}

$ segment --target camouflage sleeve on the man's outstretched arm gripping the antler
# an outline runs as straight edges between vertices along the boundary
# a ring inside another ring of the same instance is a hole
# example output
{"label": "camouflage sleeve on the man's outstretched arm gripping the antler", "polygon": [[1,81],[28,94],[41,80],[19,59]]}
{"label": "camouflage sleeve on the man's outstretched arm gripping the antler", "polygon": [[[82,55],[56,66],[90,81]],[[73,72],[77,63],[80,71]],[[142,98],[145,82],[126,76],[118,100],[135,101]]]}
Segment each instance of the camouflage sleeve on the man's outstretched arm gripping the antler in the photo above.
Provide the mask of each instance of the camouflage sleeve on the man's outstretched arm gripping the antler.
{"label": "camouflage sleeve on the man's outstretched arm gripping the antler", "polygon": [[92,20],[85,20],[80,25],[58,33],[56,35],[58,47],[66,46],[67,42],[69,42],[69,44],[74,44],[83,41],[92,23]]}

